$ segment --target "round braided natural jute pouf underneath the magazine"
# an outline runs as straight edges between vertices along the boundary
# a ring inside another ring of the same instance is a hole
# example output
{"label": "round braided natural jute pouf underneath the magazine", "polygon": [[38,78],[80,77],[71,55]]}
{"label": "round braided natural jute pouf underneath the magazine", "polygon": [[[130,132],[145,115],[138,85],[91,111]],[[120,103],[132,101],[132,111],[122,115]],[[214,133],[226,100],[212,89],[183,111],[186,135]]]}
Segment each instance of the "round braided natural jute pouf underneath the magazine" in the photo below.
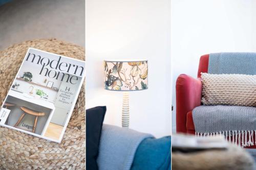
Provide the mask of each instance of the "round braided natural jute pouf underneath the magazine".
{"label": "round braided natural jute pouf underneath the magazine", "polygon": [[[10,46],[0,52],[0,104],[29,47],[84,60],[84,48],[56,39],[38,39]],[[85,89],[79,93],[61,143],[0,127],[0,169],[84,169]]]}

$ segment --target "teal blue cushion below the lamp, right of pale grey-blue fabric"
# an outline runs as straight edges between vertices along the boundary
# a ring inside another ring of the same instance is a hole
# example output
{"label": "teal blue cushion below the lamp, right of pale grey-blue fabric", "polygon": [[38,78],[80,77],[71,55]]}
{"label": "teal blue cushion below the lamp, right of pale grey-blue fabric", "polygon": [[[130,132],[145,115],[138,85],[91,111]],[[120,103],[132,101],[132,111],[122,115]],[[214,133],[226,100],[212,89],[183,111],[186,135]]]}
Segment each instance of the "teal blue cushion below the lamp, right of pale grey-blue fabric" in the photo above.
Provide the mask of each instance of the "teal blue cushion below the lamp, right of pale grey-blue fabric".
{"label": "teal blue cushion below the lamp, right of pale grey-blue fabric", "polygon": [[170,169],[170,136],[144,139],[135,154],[132,170]]}

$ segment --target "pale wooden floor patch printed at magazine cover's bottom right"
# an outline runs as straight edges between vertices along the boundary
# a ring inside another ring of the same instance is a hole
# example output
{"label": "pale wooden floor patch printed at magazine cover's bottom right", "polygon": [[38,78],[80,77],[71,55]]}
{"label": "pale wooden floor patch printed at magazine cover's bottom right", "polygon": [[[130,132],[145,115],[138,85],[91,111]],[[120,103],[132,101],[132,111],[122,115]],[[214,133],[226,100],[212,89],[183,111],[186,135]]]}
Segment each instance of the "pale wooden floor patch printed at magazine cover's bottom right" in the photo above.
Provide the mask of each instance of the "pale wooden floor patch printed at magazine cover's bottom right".
{"label": "pale wooden floor patch printed at magazine cover's bottom right", "polygon": [[49,123],[49,126],[46,130],[46,133],[45,133],[45,137],[49,137],[51,139],[58,140],[60,135],[61,135],[61,132],[62,132],[63,128],[64,128],[63,126],[53,124],[53,123]]}

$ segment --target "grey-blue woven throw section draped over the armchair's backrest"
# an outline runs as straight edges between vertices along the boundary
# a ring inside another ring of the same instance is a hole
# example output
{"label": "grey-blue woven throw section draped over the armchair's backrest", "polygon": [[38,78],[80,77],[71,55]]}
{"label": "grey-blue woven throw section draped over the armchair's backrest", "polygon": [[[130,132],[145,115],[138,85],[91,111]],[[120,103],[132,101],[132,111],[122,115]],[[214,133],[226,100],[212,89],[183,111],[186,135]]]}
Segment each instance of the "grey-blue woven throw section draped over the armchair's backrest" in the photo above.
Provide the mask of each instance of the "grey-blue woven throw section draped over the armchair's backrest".
{"label": "grey-blue woven throw section draped over the armchair's backrest", "polygon": [[256,53],[212,53],[208,73],[256,75]]}

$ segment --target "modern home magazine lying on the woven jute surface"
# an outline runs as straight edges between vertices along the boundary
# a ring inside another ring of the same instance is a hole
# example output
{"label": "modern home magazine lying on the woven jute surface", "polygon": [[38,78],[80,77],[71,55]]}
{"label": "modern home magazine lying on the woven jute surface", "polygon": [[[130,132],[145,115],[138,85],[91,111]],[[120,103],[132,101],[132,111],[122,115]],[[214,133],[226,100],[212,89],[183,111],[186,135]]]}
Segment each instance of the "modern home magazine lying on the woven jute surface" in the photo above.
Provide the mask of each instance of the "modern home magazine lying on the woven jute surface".
{"label": "modern home magazine lying on the woven jute surface", "polygon": [[0,110],[0,125],[60,142],[85,77],[85,61],[29,48]]}

